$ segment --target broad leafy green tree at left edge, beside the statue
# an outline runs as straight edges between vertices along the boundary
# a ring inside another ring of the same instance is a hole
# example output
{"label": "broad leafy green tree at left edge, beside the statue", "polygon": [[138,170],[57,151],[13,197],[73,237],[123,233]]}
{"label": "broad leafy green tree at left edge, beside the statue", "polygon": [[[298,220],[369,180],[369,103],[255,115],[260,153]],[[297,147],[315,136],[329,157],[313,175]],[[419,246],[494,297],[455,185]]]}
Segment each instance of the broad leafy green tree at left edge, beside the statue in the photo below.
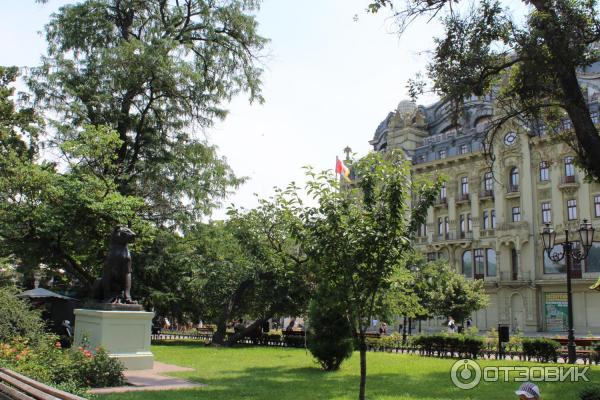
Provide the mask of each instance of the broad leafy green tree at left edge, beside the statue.
{"label": "broad leafy green tree at left edge, beside the statue", "polygon": [[64,165],[39,160],[43,123],[30,108],[17,109],[11,84],[16,68],[0,68],[0,257],[20,268],[64,269],[91,286],[115,224],[145,230],[143,202],[117,191],[113,156],[117,134],[85,126],[61,143]]}

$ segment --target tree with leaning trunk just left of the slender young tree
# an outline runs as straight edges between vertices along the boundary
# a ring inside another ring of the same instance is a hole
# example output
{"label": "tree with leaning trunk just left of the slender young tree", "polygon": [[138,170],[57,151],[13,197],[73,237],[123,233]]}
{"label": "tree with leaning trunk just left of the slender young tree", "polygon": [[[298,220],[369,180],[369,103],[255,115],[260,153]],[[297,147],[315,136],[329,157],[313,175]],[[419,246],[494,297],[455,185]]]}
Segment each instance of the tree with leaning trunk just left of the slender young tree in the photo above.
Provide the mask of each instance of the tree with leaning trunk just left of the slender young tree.
{"label": "tree with leaning trunk just left of the slender young tree", "polygon": [[298,206],[288,199],[297,188],[291,184],[278,189],[271,199],[260,199],[258,207],[230,209],[230,224],[244,254],[254,263],[253,283],[245,298],[247,313],[256,318],[244,331],[229,338],[228,344],[255,332],[277,315],[301,315],[312,293],[313,279],[306,255],[293,232],[301,225]]}

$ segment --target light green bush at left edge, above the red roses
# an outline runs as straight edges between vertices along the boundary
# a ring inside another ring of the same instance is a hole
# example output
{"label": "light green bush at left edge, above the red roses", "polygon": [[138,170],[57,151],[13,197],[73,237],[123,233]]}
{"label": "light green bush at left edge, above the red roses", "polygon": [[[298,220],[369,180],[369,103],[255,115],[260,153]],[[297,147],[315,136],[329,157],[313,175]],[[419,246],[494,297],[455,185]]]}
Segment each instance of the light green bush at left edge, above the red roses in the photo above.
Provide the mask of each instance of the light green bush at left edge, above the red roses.
{"label": "light green bush at left edge, above the red roses", "polygon": [[36,343],[43,336],[44,323],[40,313],[16,293],[12,288],[0,288],[0,343],[16,338]]}

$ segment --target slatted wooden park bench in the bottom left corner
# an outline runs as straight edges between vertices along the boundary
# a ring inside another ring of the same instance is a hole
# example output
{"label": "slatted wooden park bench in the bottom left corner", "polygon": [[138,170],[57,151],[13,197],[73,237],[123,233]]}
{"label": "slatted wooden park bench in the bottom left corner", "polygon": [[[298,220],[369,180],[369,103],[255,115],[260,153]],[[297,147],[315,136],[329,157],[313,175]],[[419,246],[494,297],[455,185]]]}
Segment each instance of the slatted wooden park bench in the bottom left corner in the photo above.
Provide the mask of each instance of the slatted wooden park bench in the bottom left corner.
{"label": "slatted wooden park bench in the bottom left corner", "polygon": [[6,368],[0,368],[0,400],[85,400],[44,385]]}

